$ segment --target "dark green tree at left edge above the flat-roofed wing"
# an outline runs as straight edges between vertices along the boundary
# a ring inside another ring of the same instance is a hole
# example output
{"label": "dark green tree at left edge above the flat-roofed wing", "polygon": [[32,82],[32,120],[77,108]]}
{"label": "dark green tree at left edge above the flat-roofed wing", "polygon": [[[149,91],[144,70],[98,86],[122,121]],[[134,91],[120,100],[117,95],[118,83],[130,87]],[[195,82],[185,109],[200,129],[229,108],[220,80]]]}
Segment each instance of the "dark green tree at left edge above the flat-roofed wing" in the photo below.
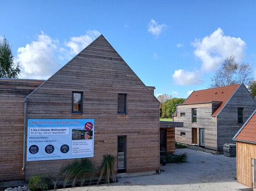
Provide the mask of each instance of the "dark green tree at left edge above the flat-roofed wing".
{"label": "dark green tree at left edge above the flat-roofed wing", "polygon": [[6,38],[0,41],[0,77],[17,78],[20,74],[19,63],[14,62],[11,46]]}

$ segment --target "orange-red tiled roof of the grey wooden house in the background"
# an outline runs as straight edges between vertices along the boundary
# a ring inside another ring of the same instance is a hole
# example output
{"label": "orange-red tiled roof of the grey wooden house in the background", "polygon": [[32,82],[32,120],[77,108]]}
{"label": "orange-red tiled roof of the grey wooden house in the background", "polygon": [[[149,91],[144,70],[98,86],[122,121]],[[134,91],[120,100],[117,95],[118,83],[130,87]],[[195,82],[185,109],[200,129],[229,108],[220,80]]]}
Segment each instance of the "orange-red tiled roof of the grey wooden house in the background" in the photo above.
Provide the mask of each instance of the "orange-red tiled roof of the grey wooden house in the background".
{"label": "orange-red tiled roof of the grey wooden house in the background", "polygon": [[212,101],[222,101],[220,107],[216,109],[213,115],[217,115],[227,101],[231,98],[240,84],[228,85],[218,88],[194,91],[183,104],[209,103]]}

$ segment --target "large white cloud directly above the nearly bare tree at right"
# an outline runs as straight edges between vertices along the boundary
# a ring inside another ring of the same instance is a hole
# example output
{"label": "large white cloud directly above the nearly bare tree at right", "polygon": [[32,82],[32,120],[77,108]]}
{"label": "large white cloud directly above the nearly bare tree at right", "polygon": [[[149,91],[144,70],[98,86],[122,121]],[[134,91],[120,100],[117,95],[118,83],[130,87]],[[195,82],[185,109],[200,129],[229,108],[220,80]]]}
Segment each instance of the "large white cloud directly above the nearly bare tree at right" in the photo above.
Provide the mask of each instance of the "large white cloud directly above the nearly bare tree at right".
{"label": "large white cloud directly above the nearly bare tree at right", "polygon": [[241,38],[224,36],[221,28],[218,28],[210,36],[203,39],[195,39],[192,43],[196,50],[194,54],[202,62],[202,71],[216,70],[225,57],[233,54],[236,61],[244,58],[246,43]]}

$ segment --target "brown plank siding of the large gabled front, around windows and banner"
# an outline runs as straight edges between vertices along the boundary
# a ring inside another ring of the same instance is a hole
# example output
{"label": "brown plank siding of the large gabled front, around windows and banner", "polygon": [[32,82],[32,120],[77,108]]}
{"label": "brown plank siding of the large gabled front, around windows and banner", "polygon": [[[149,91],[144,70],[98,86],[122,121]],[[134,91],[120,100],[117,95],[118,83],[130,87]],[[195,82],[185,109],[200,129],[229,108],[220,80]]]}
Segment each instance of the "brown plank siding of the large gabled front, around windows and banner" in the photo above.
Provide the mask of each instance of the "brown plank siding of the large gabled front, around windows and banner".
{"label": "brown plank siding of the large gabled front, around windows and banner", "polygon": [[[83,114],[72,114],[72,92],[83,92]],[[127,94],[127,114],[117,114],[118,93]],[[159,102],[101,35],[27,97],[27,119],[94,119],[96,166],[117,155],[126,136],[126,172],[159,169]],[[27,161],[25,178],[56,175],[72,160]],[[150,164],[150,165],[149,165]]]}

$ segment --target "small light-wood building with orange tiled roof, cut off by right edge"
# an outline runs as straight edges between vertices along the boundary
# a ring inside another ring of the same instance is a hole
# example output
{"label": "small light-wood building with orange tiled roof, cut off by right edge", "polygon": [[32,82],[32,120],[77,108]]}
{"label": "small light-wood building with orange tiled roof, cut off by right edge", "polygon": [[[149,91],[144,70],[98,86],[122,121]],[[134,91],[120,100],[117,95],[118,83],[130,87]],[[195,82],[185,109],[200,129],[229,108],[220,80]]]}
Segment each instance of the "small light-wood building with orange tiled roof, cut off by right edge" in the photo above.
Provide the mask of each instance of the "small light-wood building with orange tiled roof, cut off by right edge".
{"label": "small light-wood building with orange tiled roof, cut off by right edge", "polygon": [[237,144],[237,181],[256,188],[256,110],[233,140]]}

